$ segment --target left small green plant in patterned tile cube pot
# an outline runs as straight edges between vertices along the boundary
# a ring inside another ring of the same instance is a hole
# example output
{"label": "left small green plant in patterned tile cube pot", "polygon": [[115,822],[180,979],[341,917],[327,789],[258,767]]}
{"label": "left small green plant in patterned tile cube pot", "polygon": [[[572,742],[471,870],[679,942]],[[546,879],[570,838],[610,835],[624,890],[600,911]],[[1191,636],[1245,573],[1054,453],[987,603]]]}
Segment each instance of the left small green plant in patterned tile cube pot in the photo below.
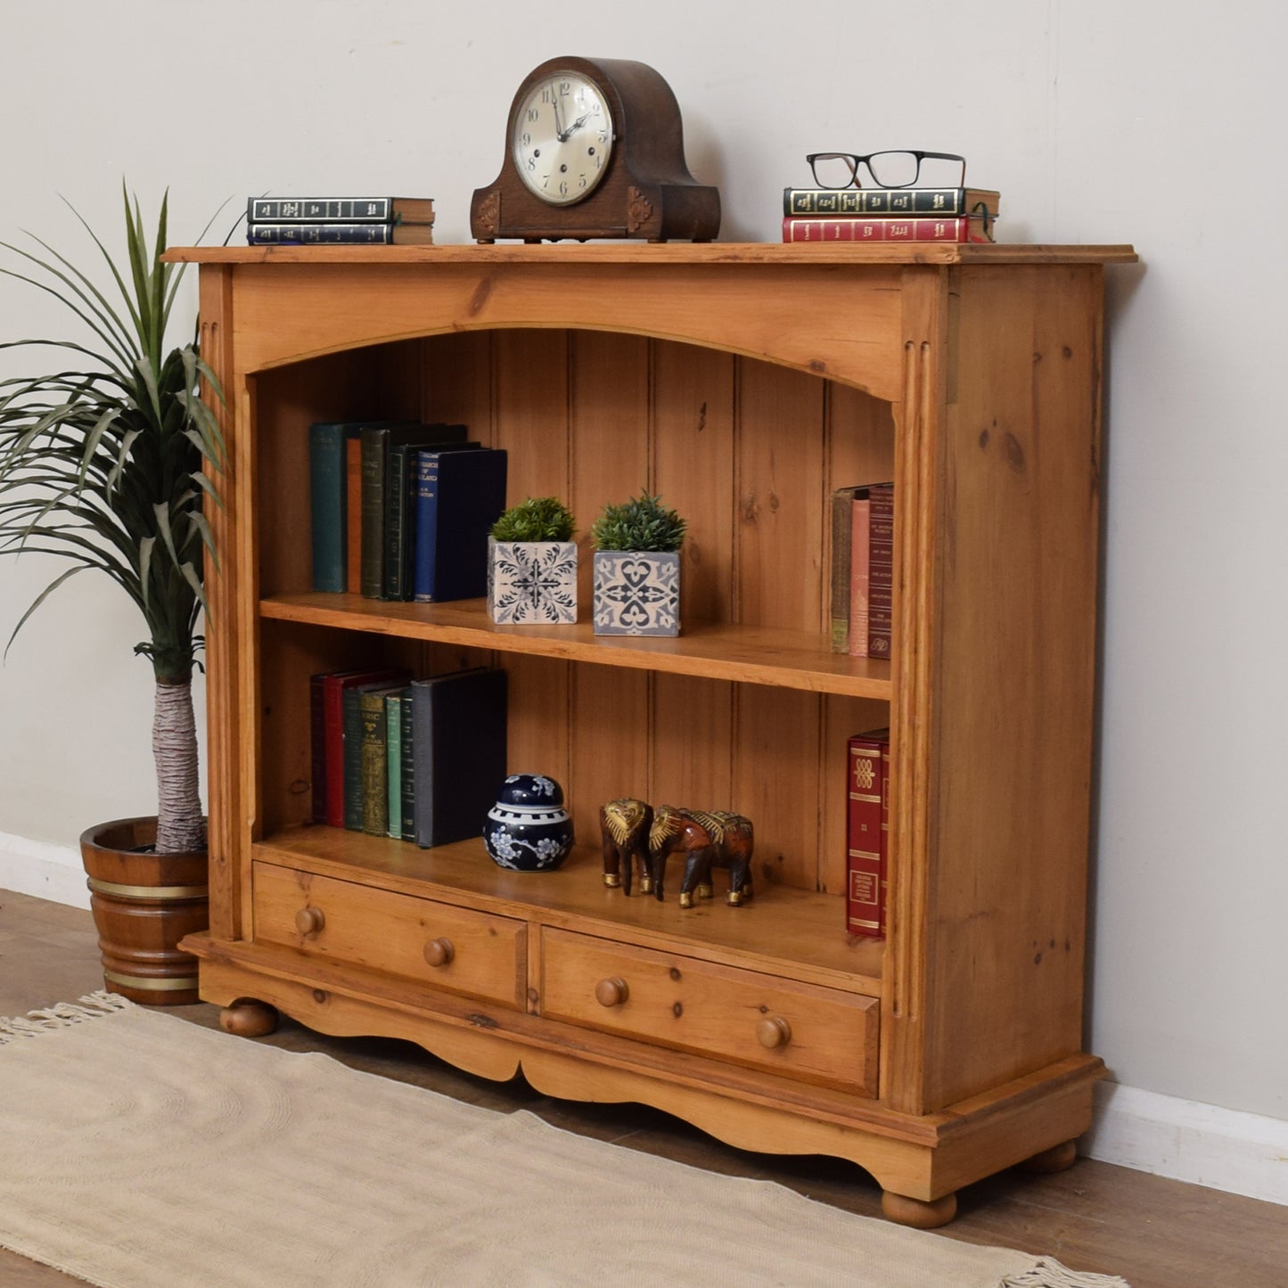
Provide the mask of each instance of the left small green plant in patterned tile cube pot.
{"label": "left small green plant in patterned tile cube pot", "polygon": [[501,626],[577,621],[577,545],[572,511],[554,496],[529,496],[492,524],[487,611]]}

